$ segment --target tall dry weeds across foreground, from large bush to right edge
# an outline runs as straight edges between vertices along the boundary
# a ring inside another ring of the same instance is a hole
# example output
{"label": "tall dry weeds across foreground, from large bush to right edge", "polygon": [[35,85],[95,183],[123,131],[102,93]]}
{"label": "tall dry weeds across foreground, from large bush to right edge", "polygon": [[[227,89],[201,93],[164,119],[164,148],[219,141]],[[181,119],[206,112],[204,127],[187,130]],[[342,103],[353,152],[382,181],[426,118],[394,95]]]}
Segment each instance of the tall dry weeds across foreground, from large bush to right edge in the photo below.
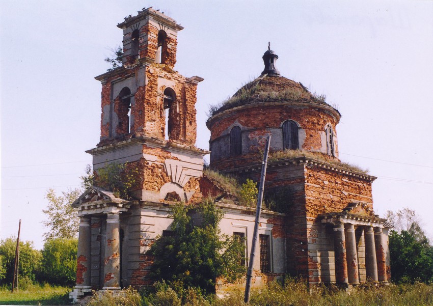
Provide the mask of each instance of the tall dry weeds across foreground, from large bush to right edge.
{"label": "tall dry weeds across foreground, from large bush to right edge", "polygon": [[[178,292],[160,288],[143,294],[142,305],[177,306],[245,306],[243,290],[232,290],[224,298],[203,296],[200,291],[188,289]],[[346,292],[335,286],[308,286],[302,280],[286,279],[284,284],[270,283],[266,288],[251,291],[250,305],[254,306],[419,306],[433,303],[433,286],[422,283],[376,287],[364,285]]]}

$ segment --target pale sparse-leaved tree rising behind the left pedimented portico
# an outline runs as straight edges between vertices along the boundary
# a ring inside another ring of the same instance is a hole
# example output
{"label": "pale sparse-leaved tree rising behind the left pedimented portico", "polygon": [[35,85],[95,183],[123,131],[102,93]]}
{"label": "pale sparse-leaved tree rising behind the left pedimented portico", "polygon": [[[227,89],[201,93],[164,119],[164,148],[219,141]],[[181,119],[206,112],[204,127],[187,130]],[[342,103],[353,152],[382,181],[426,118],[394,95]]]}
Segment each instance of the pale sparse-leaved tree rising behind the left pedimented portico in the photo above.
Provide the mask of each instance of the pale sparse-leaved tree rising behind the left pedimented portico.
{"label": "pale sparse-leaved tree rising behind the left pedimented portico", "polygon": [[78,188],[70,189],[58,196],[54,189],[48,189],[45,196],[48,205],[42,210],[47,216],[47,219],[42,221],[43,225],[48,228],[48,232],[44,233],[45,241],[53,238],[71,239],[77,236],[79,219],[72,203],[81,192]]}

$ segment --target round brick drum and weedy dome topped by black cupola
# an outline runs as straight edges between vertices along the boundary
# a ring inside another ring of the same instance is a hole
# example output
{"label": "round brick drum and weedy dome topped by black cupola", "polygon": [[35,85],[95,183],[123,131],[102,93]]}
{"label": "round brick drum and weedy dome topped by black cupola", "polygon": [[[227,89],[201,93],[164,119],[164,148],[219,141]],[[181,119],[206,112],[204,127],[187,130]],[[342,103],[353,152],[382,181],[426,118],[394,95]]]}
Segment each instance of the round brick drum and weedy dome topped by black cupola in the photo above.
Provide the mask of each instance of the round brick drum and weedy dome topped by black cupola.
{"label": "round brick drum and weedy dome topped by black cupola", "polygon": [[281,76],[278,55],[270,48],[262,58],[259,77],[210,109],[210,166],[227,170],[256,163],[267,135],[272,135],[272,152],[304,151],[338,160],[338,110],[301,82]]}

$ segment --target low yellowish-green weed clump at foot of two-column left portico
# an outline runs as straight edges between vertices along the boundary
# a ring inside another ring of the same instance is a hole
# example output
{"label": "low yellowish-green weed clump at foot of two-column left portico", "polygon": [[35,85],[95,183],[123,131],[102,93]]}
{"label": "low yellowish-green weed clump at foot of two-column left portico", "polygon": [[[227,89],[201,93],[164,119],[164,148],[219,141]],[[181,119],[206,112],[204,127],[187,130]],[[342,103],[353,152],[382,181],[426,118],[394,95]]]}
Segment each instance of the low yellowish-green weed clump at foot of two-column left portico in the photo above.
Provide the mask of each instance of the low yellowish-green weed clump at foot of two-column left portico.
{"label": "low yellowish-green weed clump at foot of two-column left portico", "polygon": [[141,297],[137,290],[129,287],[123,290],[93,292],[87,306],[140,306]]}

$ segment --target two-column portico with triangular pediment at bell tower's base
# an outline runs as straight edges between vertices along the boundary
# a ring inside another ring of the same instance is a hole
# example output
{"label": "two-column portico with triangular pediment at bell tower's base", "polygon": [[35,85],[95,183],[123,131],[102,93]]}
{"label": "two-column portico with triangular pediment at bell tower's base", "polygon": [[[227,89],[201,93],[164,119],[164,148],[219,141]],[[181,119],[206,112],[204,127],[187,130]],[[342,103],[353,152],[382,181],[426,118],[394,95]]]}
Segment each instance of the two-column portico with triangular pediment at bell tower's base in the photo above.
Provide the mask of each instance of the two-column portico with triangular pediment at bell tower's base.
{"label": "two-column portico with triangular pediment at bell tower's base", "polygon": [[[92,289],[118,290],[120,287],[120,214],[126,212],[131,202],[115,198],[113,194],[97,187],[91,187],[72,206],[78,208],[80,217],[78,231],[77,277],[70,297],[84,296]],[[105,241],[100,241],[103,258],[99,269],[103,270],[102,288],[92,288],[92,232],[91,219],[97,217],[106,222]]]}

